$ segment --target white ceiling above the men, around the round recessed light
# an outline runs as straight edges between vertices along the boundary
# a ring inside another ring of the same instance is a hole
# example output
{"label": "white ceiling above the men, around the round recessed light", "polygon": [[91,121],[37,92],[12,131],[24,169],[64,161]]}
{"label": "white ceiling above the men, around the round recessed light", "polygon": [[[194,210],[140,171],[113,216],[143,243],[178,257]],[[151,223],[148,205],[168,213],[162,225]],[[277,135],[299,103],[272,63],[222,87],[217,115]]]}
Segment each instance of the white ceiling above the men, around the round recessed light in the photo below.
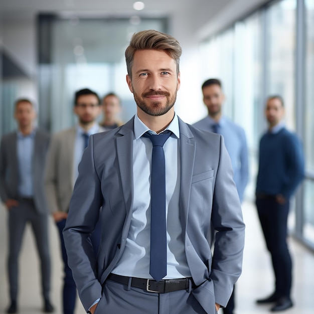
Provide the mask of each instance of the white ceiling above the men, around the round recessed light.
{"label": "white ceiling above the men, around the round recessed light", "polygon": [[[133,0],[0,0],[1,19],[14,23],[38,13],[78,17],[168,17],[186,36],[207,37],[268,0],[143,0],[142,11]],[[1,25],[0,25],[1,27]],[[190,33],[190,34],[189,34]]]}

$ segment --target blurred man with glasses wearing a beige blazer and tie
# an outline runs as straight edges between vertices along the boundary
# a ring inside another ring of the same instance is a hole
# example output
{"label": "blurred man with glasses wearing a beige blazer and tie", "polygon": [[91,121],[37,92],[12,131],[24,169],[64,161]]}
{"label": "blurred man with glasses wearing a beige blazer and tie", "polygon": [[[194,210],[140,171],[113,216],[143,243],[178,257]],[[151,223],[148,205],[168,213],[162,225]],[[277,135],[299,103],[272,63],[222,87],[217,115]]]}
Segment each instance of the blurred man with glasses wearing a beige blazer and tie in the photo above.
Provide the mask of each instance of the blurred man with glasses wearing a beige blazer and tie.
{"label": "blurred man with glasses wearing a beige blazer and tie", "polygon": [[[76,300],[76,286],[68,266],[62,231],[68,216],[70,199],[78,164],[91,134],[103,131],[96,121],[101,113],[100,100],[94,91],[85,88],[75,93],[74,113],[78,124],[54,134],[47,155],[45,191],[50,211],[59,231],[62,258],[64,262],[63,313],[73,314]],[[100,225],[92,241],[95,253],[100,242]]]}

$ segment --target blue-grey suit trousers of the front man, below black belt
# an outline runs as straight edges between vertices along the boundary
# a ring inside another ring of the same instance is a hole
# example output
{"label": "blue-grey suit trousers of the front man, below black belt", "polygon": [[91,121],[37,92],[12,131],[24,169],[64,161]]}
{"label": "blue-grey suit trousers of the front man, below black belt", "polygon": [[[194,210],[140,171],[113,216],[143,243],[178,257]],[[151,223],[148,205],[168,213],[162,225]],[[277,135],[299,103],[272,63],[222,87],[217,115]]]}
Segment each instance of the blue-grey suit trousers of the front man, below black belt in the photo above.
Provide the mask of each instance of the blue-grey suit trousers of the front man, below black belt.
{"label": "blue-grey suit trousers of the front man, below black belt", "polygon": [[[106,280],[95,314],[206,314],[188,290],[153,293]],[[213,310],[214,314],[215,310]]]}

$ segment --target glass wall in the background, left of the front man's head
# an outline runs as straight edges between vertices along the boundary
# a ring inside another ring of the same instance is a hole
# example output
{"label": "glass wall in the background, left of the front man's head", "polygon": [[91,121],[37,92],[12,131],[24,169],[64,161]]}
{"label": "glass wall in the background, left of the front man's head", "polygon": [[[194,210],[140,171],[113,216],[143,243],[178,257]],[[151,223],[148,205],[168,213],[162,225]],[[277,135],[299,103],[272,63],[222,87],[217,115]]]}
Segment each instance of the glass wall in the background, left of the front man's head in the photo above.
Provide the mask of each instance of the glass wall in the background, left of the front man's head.
{"label": "glass wall in the background, left of the front man's head", "polygon": [[[55,132],[75,123],[75,91],[90,88],[100,97],[115,92],[122,121],[135,112],[125,82],[124,51],[130,37],[144,29],[167,32],[165,19],[86,19],[39,17],[39,92],[41,124]],[[49,49],[47,49],[49,47]]]}

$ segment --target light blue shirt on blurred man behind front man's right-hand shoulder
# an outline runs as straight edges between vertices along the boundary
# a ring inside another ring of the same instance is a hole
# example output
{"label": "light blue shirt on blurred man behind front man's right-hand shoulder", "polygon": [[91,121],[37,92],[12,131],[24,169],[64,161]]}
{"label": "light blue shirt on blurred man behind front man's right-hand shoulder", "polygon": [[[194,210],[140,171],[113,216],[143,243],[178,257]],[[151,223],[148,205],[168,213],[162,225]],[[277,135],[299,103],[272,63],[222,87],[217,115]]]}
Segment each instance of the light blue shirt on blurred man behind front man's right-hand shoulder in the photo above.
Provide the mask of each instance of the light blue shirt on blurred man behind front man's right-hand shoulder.
{"label": "light blue shirt on blurred man behind front man's right-hand shoulder", "polygon": [[[193,126],[213,132],[214,125],[217,122],[210,116],[196,122]],[[218,122],[218,133],[223,135],[225,145],[230,155],[233,180],[237,186],[240,201],[243,201],[244,189],[248,182],[249,166],[248,166],[248,148],[246,136],[243,128],[235,124],[226,116],[222,116]]]}

